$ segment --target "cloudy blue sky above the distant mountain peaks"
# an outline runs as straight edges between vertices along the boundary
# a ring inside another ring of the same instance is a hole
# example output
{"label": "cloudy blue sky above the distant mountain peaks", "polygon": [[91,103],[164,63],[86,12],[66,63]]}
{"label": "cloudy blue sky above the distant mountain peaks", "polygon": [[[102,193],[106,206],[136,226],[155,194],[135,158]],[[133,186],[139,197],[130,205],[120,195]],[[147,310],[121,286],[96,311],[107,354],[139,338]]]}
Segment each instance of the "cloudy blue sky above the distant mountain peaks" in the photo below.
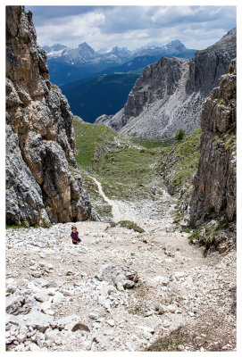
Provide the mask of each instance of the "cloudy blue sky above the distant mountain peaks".
{"label": "cloudy blue sky above the distant mountain peaks", "polygon": [[179,39],[188,48],[213,45],[236,27],[236,6],[25,6],[33,12],[38,45],[61,43],[76,48],[87,42],[95,50]]}

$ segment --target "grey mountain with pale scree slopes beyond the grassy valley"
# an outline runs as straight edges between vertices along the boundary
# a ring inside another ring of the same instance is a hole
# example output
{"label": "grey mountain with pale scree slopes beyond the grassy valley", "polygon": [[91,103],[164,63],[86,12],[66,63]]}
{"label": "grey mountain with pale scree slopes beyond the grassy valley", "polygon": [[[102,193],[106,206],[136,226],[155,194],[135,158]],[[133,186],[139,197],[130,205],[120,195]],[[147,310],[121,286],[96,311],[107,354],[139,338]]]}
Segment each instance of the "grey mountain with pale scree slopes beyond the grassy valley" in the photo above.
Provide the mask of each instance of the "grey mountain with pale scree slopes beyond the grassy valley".
{"label": "grey mountain with pale scree slopes beyond the grassy valley", "polygon": [[146,67],[129,93],[127,103],[113,118],[98,118],[123,133],[159,139],[200,127],[205,98],[236,56],[236,29],[214,46],[198,51],[194,60],[161,58]]}

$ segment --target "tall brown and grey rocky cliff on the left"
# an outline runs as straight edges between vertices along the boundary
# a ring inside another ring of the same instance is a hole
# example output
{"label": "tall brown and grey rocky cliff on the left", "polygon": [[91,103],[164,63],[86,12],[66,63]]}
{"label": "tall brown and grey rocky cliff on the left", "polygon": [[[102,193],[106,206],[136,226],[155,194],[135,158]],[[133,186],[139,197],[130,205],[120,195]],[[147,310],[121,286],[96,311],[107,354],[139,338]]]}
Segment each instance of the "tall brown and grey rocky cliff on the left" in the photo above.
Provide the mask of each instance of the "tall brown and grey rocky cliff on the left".
{"label": "tall brown and grey rocky cliff on the left", "polygon": [[51,85],[31,12],[6,6],[6,221],[92,219],[76,166],[72,113]]}

